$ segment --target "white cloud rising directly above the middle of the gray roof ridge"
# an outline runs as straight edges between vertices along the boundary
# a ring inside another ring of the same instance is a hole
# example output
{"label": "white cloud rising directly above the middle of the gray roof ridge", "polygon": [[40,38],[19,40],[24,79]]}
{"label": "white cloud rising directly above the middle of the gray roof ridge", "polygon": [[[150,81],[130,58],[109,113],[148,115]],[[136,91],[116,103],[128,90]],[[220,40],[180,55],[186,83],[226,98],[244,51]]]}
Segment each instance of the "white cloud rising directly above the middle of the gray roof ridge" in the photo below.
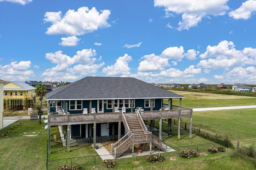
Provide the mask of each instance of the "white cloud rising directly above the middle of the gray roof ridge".
{"label": "white cloud rising directly above the middle of the gray roof ridge", "polygon": [[114,65],[104,67],[102,72],[107,76],[128,76],[130,75],[130,67],[128,66],[130,61],[132,61],[132,57],[125,54],[123,57],[118,57]]}

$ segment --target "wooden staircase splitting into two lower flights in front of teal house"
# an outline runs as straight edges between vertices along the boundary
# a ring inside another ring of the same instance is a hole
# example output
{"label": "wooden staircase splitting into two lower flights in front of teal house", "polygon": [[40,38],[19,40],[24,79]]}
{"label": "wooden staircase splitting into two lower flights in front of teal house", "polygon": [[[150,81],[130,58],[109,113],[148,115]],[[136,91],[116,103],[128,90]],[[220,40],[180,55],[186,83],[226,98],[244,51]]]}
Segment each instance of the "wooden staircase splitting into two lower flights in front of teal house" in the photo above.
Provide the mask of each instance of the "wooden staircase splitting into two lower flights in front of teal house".
{"label": "wooden staircase splitting into two lower flights in front of teal house", "polygon": [[128,148],[134,144],[152,143],[160,150],[167,151],[167,143],[164,143],[161,139],[156,137],[154,134],[146,129],[140,113],[138,117],[126,117],[123,114],[124,127],[127,134],[118,140],[114,145],[111,145],[111,154],[115,154],[115,157],[119,157]]}

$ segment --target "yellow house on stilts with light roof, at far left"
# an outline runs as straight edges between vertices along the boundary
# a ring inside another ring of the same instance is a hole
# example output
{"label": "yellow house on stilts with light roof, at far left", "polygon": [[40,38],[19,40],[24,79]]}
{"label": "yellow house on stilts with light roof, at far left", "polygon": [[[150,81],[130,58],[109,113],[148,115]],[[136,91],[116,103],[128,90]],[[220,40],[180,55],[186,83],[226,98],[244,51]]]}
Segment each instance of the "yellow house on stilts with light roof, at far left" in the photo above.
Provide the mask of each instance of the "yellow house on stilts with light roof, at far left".
{"label": "yellow house on stilts with light roof, at far left", "polygon": [[4,84],[4,107],[8,112],[10,109],[23,107],[27,110],[29,107],[35,107],[35,90],[36,88],[26,84],[25,82],[6,82]]}

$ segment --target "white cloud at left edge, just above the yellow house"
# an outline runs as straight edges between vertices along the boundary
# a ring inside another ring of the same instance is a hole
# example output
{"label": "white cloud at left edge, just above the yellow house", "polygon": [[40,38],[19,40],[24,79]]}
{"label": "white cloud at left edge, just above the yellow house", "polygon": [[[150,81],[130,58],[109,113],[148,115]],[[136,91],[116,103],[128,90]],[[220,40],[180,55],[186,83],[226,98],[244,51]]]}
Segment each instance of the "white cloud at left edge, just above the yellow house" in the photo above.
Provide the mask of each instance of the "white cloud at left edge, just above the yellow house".
{"label": "white cloud at left edge, just above the yellow house", "polygon": [[11,62],[7,65],[0,65],[1,79],[6,81],[26,81],[31,76],[34,76],[33,70],[28,70],[31,67],[30,61]]}

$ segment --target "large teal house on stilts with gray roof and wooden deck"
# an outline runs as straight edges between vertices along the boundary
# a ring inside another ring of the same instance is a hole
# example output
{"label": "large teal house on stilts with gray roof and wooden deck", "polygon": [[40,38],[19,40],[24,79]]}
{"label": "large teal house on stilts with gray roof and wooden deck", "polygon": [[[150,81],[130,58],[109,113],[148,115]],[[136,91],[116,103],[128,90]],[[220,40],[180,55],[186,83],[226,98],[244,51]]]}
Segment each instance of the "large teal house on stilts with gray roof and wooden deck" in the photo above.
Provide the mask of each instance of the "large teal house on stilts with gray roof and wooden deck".
{"label": "large teal house on stilts with gray roof and wooden deck", "polygon": [[[119,154],[126,150],[120,147],[125,144],[130,147],[131,144],[152,142],[163,150],[166,144],[161,140],[162,119],[166,119],[169,133],[174,118],[181,122],[181,117],[190,117],[192,126],[192,108],[182,108],[182,98],[184,97],[136,78],[85,77],[46,94],[48,138],[51,137],[50,127],[60,125],[68,150],[69,139],[93,139],[95,148],[96,141],[104,137],[110,137],[111,140],[127,139],[113,145],[113,149],[117,148],[116,153]],[[168,100],[166,110],[162,109],[164,99]],[[180,106],[173,106],[173,100],[179,100]],[[160,120],[159,138],[151,133],[155,119]],[[150,122],[149,131],[144,124],[146,120]],[[180,139],[180,123],[178,132]],[[134,140],[126,143],[132,137]],[[50,141],[48,140],[48,146]],[[120,148],[122,150],[118,150]],[[50,153],[50,147],[48,152]]]}

